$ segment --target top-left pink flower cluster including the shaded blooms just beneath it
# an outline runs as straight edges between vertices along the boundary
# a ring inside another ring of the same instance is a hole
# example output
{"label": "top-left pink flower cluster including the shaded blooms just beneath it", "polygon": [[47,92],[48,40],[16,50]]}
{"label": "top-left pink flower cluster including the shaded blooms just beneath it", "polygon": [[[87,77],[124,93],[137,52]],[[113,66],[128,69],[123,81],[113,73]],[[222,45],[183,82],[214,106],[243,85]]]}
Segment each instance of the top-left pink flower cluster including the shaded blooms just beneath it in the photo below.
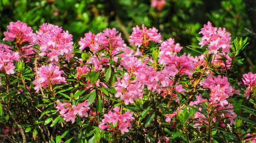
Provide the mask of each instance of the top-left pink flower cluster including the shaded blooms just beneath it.
{"label": "top-left pink flower cluster including the shaded blooms just beneath it", "polygon": [[[20,22],[10,22],[7,26],[7,31],[4,32],[5,38],[3,40],[14,41],[16,43],[16,48],[18,48],[18,53],[20,56],[25,56],[29,58],[31,54],[34,53],[33,44],[36,40],[36,34],[27,23]],[[28,42],[29,45],[22,46],[24,42]]]}

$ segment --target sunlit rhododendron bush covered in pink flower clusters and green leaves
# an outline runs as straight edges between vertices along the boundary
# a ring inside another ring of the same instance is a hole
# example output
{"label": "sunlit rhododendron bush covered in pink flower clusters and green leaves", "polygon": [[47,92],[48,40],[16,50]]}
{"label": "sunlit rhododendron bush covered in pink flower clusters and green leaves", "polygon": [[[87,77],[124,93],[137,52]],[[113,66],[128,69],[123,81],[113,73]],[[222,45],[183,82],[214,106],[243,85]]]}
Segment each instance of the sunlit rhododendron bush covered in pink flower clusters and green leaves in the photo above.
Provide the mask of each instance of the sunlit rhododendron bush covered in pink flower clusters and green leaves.
{"label": "sunlit rhododendron bush covered in pink flower clusters and green leaves", "polygon": [[247,38],[232,41],[211,22],[199,34],[198,46],[185,47],[142,24],[126,44],[116,28],[74,43],[57,25],[33,32],[10,22],[0,44],[0,137],[255,142],[256,74],[235,67]]}

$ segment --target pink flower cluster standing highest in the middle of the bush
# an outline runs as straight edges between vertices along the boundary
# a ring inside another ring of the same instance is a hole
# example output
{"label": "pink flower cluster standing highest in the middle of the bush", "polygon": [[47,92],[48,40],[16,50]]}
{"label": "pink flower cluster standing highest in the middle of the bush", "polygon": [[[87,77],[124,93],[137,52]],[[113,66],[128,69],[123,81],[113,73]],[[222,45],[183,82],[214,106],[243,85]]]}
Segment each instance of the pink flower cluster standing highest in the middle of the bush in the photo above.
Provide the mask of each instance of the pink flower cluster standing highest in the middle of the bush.
{"label": "pink flower cluster standing highest in the middle of the bush", "polygon": [[147,47],[150,41],[154,41],[156,43],[161,42],[161,34],[158,33],[158,30],[155,27],[149,28],[148,30],[144,24],[142,24],[142,30],[138,25],[133,27],[133,33],[129,40],[130,43],[134,43],[137,47],[140,47],[141,45]]}

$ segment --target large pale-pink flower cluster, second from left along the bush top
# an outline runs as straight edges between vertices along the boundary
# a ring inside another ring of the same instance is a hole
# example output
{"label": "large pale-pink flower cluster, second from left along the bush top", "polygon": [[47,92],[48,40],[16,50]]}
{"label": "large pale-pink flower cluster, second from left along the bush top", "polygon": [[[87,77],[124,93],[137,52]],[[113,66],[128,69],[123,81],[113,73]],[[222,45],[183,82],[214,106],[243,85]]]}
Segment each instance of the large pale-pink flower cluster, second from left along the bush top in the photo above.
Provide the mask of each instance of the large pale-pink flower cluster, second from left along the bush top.
{"label": "large pale-pink flower cluster, second from left along the bush top", "polygon": [[63,56],[67,61],[73,57],[72,35],[63,31],[61,27],[53,24],[43,23],[36,31],[36,43],[40,45],[40,56],[47,56],[51,62],[59,61]]}

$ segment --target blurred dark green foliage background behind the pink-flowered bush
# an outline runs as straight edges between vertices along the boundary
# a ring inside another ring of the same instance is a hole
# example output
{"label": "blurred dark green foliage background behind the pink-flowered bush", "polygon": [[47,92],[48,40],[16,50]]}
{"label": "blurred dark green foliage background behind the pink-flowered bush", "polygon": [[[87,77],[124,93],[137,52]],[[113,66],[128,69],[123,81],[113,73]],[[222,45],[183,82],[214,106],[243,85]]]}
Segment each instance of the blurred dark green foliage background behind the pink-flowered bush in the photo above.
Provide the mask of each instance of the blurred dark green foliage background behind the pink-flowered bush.
{"label": "blurred dark green foliage background behind the pink-flowered bush", "polygon": [[255,20],[253,23],[252,12],[248,11],[256,6],[253,1],[166,0],[163,9],[157,10],[151,7],[150,0],[0,0],[0,38],[4,37],[10,21],[21,20],[34,31],[43,22],[62,26],[73,35],[75,42],[88,31],[98,33],[106,27],[116,27],[127,42],[132,27],[144,23],[158,28],[162,39],[175,38],[185,47],[198,45],[196,37],[200,28],[211,21],[214,26],[226,27],[232,40],[249,37],[249,46],[240,53],[244,64],[237,68],[242,73],[256,73],[256,32],[253,31],[256,23]]}

